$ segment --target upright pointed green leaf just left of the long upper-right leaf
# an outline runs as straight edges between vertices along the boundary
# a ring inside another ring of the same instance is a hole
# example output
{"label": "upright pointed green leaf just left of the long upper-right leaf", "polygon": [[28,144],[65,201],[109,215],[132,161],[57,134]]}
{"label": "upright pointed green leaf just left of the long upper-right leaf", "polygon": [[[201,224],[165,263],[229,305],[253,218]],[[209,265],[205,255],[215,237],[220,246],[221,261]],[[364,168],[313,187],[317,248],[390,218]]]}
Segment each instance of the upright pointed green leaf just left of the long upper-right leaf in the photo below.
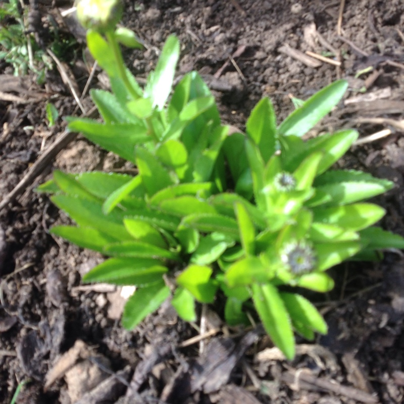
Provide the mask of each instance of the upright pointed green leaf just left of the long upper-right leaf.
{"label": "upright pointed green leaf just left of the long upper-right leaf", "polygon": [[275,153],[276,119],[269,98],[255,106],[245,124],[247,135],[258,146],[264,162]]}

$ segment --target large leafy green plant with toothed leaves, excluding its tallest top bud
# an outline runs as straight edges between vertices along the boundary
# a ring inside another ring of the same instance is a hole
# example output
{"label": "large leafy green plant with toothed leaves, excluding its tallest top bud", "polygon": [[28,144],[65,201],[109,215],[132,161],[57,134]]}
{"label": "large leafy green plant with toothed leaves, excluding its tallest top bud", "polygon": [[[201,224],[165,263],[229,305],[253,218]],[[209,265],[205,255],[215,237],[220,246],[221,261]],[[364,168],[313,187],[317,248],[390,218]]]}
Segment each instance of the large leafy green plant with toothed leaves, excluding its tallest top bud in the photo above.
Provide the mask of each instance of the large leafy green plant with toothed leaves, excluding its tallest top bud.
{"label": "large leafy green plant with toothed leaves, excluding its tallest top bud", "polygon": [[229,135],[197,73],[186,74],[170,97],[175,36],[144,89],[124,67],[113,27],[90,29],[87,42],[112,91],[91,90],[103,122],[70,118],[68,128],[133,163],[138,175],[55,171],[39,190],[53,193],[53,203],[77,224],[56,226],[53,234],[110,257],[85,282],[137,286],[123,313],[125,327],[170,296],[187,321],[196,319],[195,302],[223,298],[230,325],[246,323],[245,311],[255,309],[292,358],[293,330],[308,339],[327,332],[297,287],[326,292],[333,287],[330,267],[404,247],[400,236],[373,227],[385,211],[363,202],[393,184],[330,170],[358,133],[301,139],[338,103],[345,81],[313,95],[279,126],[264,98],[246,133]]}

